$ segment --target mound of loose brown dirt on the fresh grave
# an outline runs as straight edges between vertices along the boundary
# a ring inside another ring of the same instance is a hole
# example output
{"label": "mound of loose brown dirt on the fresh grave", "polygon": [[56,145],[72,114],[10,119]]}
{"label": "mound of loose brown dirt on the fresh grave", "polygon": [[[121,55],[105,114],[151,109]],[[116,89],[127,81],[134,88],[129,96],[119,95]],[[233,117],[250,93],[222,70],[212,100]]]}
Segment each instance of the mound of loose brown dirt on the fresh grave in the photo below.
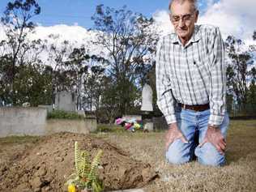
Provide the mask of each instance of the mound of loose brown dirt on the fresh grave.
{"label": "mound of loose brown dirt on the fresh grave", "polygon": [[75,173],[74,143],[95,156],[98,149],[100,178],[105,190],[145,186],[157,174],[150,164],[133,160],[129,154],[103,139],[85,134],[60,133],[38,139],[32,146],[15,152],[15,157],[0,165],[0,191],[66,191],[64,183]]}

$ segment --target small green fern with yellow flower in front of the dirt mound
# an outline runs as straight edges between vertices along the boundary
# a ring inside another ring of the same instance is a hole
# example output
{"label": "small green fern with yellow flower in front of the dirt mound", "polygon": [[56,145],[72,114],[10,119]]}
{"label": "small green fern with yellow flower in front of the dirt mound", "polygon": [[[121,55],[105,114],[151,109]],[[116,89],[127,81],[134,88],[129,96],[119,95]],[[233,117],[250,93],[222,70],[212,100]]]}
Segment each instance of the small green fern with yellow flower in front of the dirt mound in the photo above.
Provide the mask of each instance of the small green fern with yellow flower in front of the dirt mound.
{"label": "small green fern with yellow flower in front of the dirt mound", "polygon": [[75,142],[76,172],[71,174],[70,179],[66,181],[69,192],[100,192],[103,190],[103,183],[96,174],[102,153],[102,150],[98,151],[91,163],[88,152],[80,151],[78,142]]}

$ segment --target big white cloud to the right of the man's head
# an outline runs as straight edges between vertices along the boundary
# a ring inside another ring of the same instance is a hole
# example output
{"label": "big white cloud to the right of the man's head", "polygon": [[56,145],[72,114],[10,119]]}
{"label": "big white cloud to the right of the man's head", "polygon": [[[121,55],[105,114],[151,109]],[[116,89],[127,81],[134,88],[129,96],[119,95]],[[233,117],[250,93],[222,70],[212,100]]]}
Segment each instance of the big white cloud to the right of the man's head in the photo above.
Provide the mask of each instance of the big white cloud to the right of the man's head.
{"label": "big white cloud to the right of the man's head", "polygon": [[233,35],[243,40],[252,39],[256,29],[255,7],[254,0],[221,0],[208,6],[198,23],[211,23],[220,27],[224,37]]}

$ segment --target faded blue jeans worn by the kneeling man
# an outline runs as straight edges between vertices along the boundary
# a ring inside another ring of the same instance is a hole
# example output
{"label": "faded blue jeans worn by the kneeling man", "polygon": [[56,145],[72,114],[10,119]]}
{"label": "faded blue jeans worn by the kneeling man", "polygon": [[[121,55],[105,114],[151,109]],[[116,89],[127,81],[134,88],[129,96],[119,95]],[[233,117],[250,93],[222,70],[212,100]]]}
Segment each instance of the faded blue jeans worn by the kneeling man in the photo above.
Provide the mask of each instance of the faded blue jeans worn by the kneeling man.
{"label": "faded blue jeans worn by the kneeling man", "polygon": [[[202,112],[196,112],[190,109],[181,109],[181,112],[176,114],[177,126],[189,143],[183,143],[181,139],[176,139],[170,144],[166,151],[166,159],[171,164],[184,164],[192,160],[193,155],[197,156],[200,164],[220,166],[225,163],[224,155],[211,143],[204,143],[202,147],[196,146],[194,142],[194,134],[198,131],[199,143],[203,142],[207,133],[207,125],[210,117],[210,109]],[[229,117],[228,113],[224,116],[224,121],[220,125],[221,133],[224,138],[228,130]]]}

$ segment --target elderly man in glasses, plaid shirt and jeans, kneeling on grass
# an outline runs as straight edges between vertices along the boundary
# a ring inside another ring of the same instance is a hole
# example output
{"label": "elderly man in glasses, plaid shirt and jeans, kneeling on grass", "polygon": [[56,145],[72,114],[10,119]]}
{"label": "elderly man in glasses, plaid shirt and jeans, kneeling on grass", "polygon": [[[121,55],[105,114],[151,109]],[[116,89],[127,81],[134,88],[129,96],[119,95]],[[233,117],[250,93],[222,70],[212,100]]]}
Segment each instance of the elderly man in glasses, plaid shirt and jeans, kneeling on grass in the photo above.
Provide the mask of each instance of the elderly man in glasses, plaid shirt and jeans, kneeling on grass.
{"label": "elderly man in glasses, plaid shirt and jeans, kneeling on grass", "polygon": [[223,165],[229,119],[220,30],[195,25],[195,0],[173,0],[169,11],[175,33],[159,41],[156,53],[157,104],[169,124],[166,158],[184,164],[195,155],[201,164]]}

